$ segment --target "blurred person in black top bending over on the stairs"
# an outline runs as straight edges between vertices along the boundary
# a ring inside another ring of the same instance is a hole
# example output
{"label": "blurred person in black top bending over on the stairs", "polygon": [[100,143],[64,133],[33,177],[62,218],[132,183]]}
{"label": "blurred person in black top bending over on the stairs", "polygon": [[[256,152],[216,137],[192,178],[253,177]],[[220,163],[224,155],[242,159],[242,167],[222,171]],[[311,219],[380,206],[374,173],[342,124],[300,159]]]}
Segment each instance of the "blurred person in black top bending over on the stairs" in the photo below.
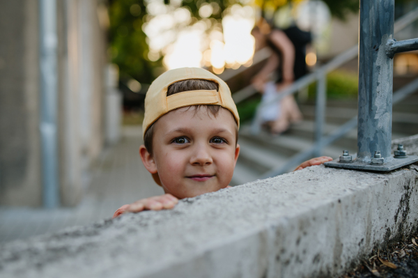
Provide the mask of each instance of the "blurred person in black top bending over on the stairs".
{"label": "blurred person in black top bending over on the stairs", "polygon": [[[251,31],[256,39],[256,50],[269,47],[272,56],[251,80],[253,86],[263,93],[262,103],[269,103],[261,111],[261,117],[272,134],[285,132],[291,123],[302,120],[302,113],[293,98],[287,95],[279,103],[273,102],[277,93],[293,81],[307,74],[305,62],[306,45],[311,42],[311,33],[290,26],[287,29],[271,29],[261,18]],[[274,73],[275,80],[269,81]]]}

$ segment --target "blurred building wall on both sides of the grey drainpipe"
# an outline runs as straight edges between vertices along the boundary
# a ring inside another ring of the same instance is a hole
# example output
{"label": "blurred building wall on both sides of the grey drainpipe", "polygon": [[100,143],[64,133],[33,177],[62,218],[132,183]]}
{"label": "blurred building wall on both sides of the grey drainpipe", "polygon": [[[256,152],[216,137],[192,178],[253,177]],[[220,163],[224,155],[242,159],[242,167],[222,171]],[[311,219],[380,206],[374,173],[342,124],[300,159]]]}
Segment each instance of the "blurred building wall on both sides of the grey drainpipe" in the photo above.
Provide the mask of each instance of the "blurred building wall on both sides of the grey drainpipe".
{"label": "blurred building wall on both sides of the grey drainpipe", "polygon": [[[57,0],[61,204],[75,206],[104,142],[104,0]],[[0,0],[0,206],[42,205],[39,1]]]}

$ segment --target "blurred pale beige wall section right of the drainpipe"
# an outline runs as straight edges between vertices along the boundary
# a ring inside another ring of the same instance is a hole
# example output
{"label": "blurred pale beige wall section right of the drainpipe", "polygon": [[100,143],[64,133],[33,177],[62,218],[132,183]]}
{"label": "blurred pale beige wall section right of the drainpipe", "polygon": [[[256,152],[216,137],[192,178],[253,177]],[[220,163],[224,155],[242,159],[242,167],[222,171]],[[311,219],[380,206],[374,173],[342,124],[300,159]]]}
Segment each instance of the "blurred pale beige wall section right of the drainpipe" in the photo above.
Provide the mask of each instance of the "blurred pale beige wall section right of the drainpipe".
{"label": "blurred pale beige wall section right of the drainpipe", "polygon": [[75,206],[89,182],[91,164],[104,144],[106,29],[97,8],[103,1],[59,1],[61,202]]}

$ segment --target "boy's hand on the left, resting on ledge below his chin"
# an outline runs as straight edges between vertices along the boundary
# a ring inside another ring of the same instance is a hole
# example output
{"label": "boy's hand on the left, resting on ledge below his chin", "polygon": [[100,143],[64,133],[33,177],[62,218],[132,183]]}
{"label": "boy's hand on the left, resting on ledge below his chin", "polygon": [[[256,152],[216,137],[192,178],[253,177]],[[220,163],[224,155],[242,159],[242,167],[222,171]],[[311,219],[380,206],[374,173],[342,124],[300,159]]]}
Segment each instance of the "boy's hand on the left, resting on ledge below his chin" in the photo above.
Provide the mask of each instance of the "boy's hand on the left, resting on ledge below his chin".
{"label": "boy's hand on the left, resting on ledge below his chin", "polygon": [[178,199],[171,194],[164,194],[161,196],[153,196],[146,199],[141,199],[130,205],[121,206],[114,213],[112,218],[118,217],[123,213],[139,213],[142,210],[162,210],[171,209],[176,206]]}

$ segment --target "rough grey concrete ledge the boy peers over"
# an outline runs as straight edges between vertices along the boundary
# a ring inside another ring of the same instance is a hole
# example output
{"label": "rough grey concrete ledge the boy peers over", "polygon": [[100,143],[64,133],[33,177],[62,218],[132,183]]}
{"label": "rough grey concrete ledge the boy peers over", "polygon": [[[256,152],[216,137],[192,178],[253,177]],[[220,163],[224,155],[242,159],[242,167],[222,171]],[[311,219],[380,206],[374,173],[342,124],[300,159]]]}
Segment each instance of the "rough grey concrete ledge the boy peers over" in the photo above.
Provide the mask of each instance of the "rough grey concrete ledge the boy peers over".
{"label": "rough grey concrete ledge the boy peers over", "polygon": [[321,165],[10,242],[0,277],[333,277],[416,231],[417,211],[417,164]]}

